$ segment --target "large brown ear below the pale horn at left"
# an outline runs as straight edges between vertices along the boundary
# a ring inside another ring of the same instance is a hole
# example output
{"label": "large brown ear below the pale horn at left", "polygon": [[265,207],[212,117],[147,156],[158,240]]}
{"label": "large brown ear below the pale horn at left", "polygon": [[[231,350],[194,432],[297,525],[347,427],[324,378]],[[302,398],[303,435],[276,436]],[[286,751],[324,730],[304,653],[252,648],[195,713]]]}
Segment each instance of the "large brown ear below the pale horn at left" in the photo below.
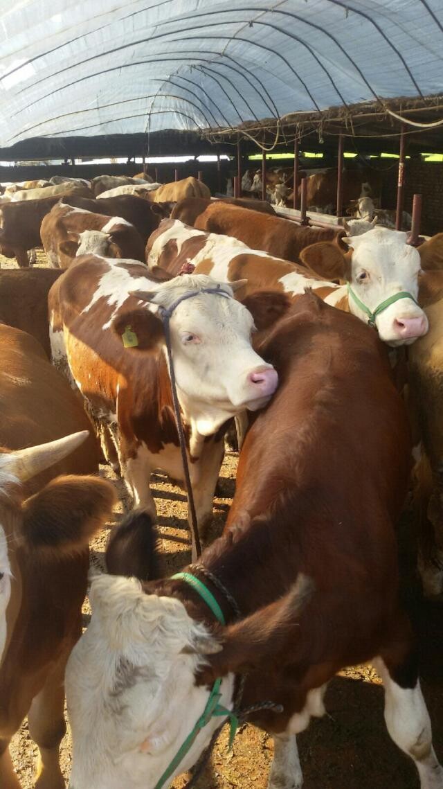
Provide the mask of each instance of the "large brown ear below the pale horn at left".
{"label": "large brown ear below the pale horn at left", "polygon": [[40,555],[73,555],[112,514],[114,487],[95,477],[57,477],[22,504],[24,545]]}

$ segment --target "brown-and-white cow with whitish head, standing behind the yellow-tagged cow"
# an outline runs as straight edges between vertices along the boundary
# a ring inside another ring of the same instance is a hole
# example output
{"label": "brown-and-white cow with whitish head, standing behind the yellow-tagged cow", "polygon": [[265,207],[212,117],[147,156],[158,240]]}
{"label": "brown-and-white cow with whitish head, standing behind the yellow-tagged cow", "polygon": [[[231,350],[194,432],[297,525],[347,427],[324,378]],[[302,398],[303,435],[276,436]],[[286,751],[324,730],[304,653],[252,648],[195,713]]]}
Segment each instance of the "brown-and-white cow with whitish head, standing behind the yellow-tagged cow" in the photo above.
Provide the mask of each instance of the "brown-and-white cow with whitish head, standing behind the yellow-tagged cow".
{"label": "brown-and-white cow with whitish head, standing behind the yellow-tagged cow", "polygon": [[63,202],[44,217],[40,236],[54,267],[68,268],[83,254],[144,260],[143,239],[126,219],[93,214]]}

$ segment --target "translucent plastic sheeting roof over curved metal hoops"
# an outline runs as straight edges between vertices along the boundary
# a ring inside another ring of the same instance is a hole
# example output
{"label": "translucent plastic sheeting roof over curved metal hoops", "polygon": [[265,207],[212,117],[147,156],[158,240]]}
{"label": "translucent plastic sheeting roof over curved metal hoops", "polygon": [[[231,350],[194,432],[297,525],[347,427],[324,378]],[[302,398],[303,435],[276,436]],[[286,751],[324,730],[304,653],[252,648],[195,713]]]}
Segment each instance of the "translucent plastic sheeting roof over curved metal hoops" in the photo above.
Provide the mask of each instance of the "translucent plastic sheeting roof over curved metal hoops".
{"label": "translucent plastic sheeting roof over curved metal hoops", "polygon": [[441,0],[0,0],[0,145],[207,129],[443,85]]}

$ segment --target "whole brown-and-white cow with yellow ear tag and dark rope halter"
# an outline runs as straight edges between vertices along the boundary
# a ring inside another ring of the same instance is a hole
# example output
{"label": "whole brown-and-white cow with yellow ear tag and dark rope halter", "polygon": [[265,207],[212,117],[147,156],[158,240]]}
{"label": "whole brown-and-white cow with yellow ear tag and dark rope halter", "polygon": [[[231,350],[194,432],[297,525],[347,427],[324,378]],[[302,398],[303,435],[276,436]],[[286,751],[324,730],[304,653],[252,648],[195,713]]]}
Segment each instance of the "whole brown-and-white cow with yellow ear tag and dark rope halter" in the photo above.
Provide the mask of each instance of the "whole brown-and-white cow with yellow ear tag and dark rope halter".
{"label": "whole brown-and-white cow with yellow ear tag and dark rope halter", "polygon": [[274,368],[252,350],[253,319],[233,299],[235,287],[192,275],[158,283],[133,260],[84,256],[48,297],[53,361],[68,365],[96,421],[117,436],[134,506],[153,517],[151,472],[160,468],[184,480],[161,320],[162,309],[180,301],[171,346],[203,537],[225,423],[262,407],[277,387]]}

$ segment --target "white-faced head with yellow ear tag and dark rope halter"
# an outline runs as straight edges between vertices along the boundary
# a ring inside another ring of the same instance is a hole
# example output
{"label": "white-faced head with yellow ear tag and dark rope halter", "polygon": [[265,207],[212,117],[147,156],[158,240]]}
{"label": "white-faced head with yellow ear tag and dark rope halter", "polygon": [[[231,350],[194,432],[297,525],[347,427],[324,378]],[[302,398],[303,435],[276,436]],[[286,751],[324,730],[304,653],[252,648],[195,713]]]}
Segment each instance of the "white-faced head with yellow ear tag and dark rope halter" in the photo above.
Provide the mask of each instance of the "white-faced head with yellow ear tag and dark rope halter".
{"label": "white-faced head with yellow ear tag and dark rope halter", "polygon": [[[203,436],[244,409],[262,408],[277,388],[274,368],[252,350],[251,312],[233,299],[233,290],[241,286],[244,280],[220,285],[204,275],[181,275],[149,292],[133,292],[145,304],[114,320],[114,331],[122,337],[128,326],[136,333],[132,353],[143,353],[164,343],[162,308],[195,294],[174,308],[170,332],[181,407]],[[201,293],[208,288],[220,294]]]}

